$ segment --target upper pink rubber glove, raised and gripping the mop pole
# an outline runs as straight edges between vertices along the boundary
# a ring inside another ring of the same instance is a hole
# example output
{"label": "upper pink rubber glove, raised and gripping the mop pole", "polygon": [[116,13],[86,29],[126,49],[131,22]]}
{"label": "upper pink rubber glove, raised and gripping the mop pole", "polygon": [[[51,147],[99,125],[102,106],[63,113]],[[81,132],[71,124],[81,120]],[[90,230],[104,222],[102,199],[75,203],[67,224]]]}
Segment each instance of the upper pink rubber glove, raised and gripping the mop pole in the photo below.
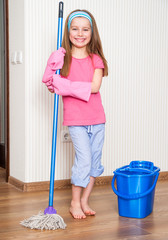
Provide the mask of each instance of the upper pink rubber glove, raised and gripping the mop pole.
{"label": "upper pink rubber glove, raised and gripping the mop pole", "polygon": [[58,69],[62,69],[64,65],[65,53],[65,49],[61,47],[50,55],[42,79],[42,82],[45,83],[47,87],[51,86],[52,77],[55,71]]}

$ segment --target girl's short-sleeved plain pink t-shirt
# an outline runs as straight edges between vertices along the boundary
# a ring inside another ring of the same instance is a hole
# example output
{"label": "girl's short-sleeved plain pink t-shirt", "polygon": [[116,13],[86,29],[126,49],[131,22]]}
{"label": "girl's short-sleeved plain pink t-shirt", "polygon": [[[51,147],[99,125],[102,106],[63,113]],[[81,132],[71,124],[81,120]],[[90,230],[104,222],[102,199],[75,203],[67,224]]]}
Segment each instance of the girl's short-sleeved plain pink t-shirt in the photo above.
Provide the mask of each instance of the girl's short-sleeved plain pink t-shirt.
{"label": "girl's short-sleeved plain pink t-shirt", "polygon": [[[102,59],[93,54],[82,59],[72,57],[70,73],[67,79],[71,81],[91,82],[94,70],[104,68]],[[64,103],[65,126],[94,125],[105,123],[105,113],[100,92],[92,93],[88,102],[74,97],[62,97]]]}

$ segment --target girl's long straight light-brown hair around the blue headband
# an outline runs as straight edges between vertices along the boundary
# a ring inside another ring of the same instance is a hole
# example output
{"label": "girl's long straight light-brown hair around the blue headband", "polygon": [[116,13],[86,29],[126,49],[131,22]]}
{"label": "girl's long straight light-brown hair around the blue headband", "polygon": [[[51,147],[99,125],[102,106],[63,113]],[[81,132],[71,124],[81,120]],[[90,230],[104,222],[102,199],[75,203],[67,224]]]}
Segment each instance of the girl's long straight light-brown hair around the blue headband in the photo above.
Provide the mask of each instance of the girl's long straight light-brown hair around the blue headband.
{"label": "girl's long straight light-brown hair around the blue headband", "polygon": [[96,21],[93,17],[93,15],[87,11],[87,10],[75,10],[72,11],[66,21],[65,21],[65,28],[64,28],[64,35],[63,35],[63,40],[62,40],[62,47],[65,48],[66,50],[66,54],[64,57],[64,65],[63,68],[61,69],[61,75],[64,77],[67,77],[69,74],[69,70],[70,70],[70,65],[71,65],[71,60],[72,60],[72,54],[71,54],[71,49],[72,49],[72,44],[70,42],[69,39],[69,31],[68,31],[68,19],[69,16],[76,11],[84,11],[86,13],[88,13],[92,19],[92,37],[90,42],[88,43],[86,50],[87,53],[90,55],[90,57],[92,58],[92,54],[97,54],[103,61],[104,63],[104,76],[108,75],[108,66],[107,66],[107,61],[104,57],[104,53],[103,53],[103,48],[102,48],[102,44],[101,44],[101,40],[100,40],[100,36],[99,36],[99,32],[98,32],[98,28],[97,28],[97,24]]}

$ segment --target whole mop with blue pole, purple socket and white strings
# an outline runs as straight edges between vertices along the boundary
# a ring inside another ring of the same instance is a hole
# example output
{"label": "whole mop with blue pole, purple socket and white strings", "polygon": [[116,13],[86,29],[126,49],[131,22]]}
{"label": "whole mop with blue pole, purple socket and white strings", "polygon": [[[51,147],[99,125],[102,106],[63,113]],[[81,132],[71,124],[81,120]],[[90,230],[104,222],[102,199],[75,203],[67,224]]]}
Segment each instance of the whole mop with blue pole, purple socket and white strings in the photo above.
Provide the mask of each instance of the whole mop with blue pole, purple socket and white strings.
{"label": "whole mop with blue pole, purple socket and white strings", "polygon": [[[61,47],[62,42],[62,24],[63,23],[63,2],[59,2],[59,17],[58,17],[58,36],[57,50]],[[56,71],[60,74],[60,70]],[[53,116],[53,136],[52,136],[52,152],[51,152],[51,171],[50,171],[50,191],[49,191],[49,206],[38,215],[34,215],[20,222],[21,225],[31,229],[47,229],[55,230],[58,228],[65,229],[66,224],[57,211],[53,208],[54,198],[54,175],[55,175],[55,157],[56,157],[56,141],[57,141],[57,122],[58,122],[58,105],[59,95],[54,95],[54,116]]]}

